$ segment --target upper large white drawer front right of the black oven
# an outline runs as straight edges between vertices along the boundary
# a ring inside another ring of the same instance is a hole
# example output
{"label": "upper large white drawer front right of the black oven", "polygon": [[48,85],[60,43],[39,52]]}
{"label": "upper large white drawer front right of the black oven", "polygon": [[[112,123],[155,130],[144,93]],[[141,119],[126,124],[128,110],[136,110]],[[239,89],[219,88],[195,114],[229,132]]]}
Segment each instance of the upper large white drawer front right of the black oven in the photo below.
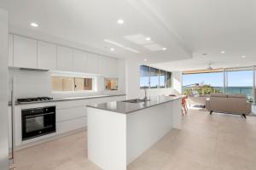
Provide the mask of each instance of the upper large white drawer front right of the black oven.
{"label": "upper large white drawer front right of the black oven", "polygon": [[87,116],[86,106],[56,110],[56,122],[63,122],[83,116]]}

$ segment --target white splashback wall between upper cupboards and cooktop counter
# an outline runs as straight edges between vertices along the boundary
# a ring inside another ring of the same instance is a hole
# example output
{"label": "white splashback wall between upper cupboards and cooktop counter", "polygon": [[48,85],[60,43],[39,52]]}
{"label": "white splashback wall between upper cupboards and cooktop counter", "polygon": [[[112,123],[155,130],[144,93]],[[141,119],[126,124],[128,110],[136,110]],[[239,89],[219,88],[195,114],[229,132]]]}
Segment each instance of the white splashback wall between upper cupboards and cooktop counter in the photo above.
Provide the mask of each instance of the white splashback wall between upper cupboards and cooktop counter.
{"label": "white splashback wall between upper cupboards and cooktop counter", "polygon": [[[96,77],[96,92],[86,93],[52,93],[51,92],[51,71],[26,71],[9,68],[9,100],[11,89],[11,77],[15,76],[16,98],[32,98],[49,96],[53,98],[79,97],[101,94],[125,94],[125,61],[118,62],[119,90],[106,91],[103,76]],[[66,74],[66,73],[65,73]]]}

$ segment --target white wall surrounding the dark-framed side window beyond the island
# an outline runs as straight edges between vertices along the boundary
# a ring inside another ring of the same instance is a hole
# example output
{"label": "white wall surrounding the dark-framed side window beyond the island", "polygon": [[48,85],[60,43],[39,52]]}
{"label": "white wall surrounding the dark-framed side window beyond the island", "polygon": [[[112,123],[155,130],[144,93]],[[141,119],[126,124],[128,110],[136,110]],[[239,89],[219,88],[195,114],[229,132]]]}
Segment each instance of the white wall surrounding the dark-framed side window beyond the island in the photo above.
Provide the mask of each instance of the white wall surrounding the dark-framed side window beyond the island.
{"label": "white wall surrounding the dark-framed side window beyond the island", "polygon": [[[126,94],[127,99],[143,98],[144,90],[140,89],[140,65],[136,61],[127,60],[126,70]],[[172,88],[148,89],[148,96],[181,94],[181,72],[174,72],[172,76]],[[180,85],[180,87],[179,87]]]}

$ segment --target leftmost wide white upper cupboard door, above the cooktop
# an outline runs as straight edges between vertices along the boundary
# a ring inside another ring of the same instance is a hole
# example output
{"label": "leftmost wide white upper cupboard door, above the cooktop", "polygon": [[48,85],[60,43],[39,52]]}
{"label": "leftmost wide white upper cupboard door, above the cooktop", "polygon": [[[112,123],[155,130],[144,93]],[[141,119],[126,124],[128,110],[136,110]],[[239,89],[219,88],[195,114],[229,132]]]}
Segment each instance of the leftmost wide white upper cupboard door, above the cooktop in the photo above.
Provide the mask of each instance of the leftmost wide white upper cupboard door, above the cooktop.
{"label": "leftmost wide white upper cupboard door, above the cooktop", "polygon": [[14,36],[14,66],[37,68],[37,40]]}

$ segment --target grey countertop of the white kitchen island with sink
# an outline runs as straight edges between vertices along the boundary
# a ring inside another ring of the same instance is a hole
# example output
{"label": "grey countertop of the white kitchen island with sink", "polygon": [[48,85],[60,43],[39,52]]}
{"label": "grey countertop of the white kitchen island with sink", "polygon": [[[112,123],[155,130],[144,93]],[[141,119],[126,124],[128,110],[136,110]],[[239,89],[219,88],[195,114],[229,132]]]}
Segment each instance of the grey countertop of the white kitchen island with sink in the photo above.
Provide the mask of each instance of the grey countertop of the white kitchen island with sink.
{"label": "grey countertop of the white kitchen island with sink", "polygon": [[182,95],[179,96],[155,96],[155,97],[150,97],[150,100],[147,102],[141,102],[141,103],[129,103],[129,102],[124,102],[124,101],[113,101],[113,102],[108,102],[108,103],[103,103],[103,104],[96,104],[96,105],[87,105],[88,107],[91,108],[96,108],[104,111],[113,111],[117,113],[122,113],[122,114],[128,114],[134,111],[139,111],[143,109],[147,109],[148,107],[152,107],[154,105],[161,105],[166,102],[170,102],[176,99],[181,99],[183,98]]}

